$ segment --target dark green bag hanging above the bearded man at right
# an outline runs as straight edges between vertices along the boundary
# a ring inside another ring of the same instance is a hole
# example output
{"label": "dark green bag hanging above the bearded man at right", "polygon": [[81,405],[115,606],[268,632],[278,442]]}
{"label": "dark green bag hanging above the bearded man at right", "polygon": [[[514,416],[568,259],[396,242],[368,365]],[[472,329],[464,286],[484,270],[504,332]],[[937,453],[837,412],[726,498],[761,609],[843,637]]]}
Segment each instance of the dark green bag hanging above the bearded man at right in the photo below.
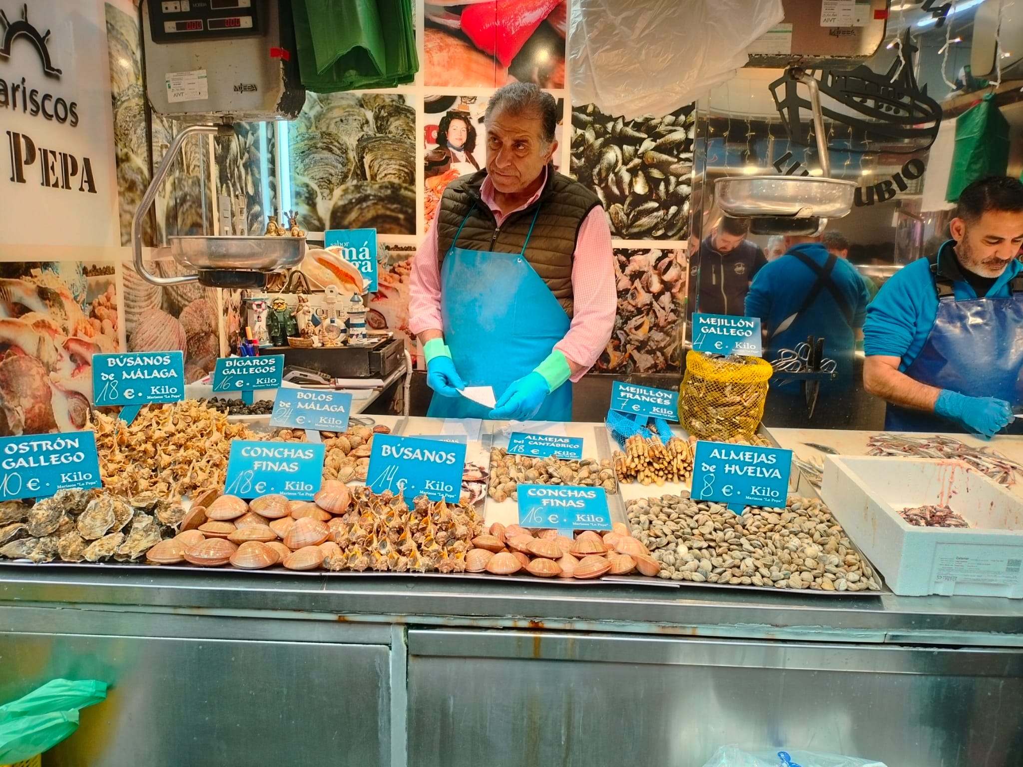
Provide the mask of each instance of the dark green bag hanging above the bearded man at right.
{"label": "dark green bag hanging above the bearded man at right", "polygon": [[985,176],[1003,176],[1009,168],[1009,121],[988,93],[955,120],[955,148],[945,199],[959,200],[963,190]]}

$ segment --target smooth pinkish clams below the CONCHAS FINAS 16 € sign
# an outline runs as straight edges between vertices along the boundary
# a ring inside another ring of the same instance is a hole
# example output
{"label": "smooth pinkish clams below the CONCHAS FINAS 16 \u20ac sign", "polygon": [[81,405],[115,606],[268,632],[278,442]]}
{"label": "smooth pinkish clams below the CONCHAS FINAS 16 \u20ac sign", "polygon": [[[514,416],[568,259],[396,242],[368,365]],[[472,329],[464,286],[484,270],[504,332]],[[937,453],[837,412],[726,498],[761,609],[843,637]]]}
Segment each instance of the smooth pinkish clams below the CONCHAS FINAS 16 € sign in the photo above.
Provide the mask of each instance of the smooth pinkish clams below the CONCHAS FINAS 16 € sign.
{"label": "smooth pinkish clams below the CONCHAS FINAS 16 \u20ac sign", "polygon": [[473,546],[465,555],[469,573],[506,576],[524,571],[537,578],[586,580],[634,572],[656,576],[661,569],[622,523],[616,523],[603,536],[584,530],[574,538],[557,530],[527,530],[519,525],[494,523],[487,535],[473,539]]}

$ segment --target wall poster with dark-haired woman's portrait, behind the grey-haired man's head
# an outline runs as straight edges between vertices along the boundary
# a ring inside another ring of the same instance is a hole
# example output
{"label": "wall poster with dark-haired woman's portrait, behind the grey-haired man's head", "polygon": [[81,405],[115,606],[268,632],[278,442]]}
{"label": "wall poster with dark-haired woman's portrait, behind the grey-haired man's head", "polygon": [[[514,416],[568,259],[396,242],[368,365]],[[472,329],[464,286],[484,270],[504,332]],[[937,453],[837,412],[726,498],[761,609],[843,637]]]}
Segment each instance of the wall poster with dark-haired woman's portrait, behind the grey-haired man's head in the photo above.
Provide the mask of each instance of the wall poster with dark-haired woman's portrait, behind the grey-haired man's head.
{"label": "wall poster with dark-haired woman's portrait, behind the grey-haired man's head", "polygon": [[[484,145],[483,116],[487,110],[485,96],[428,95],[424,97],[424,177],[426,179],[425,217],[422,231],[437,215],[437,207],[447,185],[459,176],[476,173],[487,165]],[[554,139],[562,142],[565,100],[558,99],[558,125]],[[552,160],[561,170],[562,153]]]}

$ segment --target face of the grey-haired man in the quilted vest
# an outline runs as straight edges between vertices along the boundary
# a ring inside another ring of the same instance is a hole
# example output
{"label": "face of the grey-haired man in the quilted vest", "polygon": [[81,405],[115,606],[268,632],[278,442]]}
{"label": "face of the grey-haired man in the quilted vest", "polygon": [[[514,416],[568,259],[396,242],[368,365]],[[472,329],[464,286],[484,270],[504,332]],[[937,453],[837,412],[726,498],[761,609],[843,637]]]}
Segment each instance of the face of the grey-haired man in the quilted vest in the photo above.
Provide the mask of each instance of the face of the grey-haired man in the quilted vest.
{"label": "face of the grey-haired man in the quilted vest", "polygon": [[504,194],[525,191],[550,162],[558,142],[544,142],[538,115],[509,115],[498,109],[487,122],[487,175]]}

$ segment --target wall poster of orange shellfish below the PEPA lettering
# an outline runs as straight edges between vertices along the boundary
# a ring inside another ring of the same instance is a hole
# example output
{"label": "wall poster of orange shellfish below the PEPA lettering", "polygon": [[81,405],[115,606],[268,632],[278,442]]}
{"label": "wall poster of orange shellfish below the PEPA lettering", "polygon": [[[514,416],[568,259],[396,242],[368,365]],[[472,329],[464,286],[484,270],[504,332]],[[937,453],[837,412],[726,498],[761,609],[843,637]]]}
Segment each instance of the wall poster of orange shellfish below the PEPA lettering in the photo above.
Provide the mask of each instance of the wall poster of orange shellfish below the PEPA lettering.
{"label": "wall poster of orange shellfish below the PEPA lettering", "polygon": [[113,262],[0,264],[0,436],[82,428],[118,334]]}

